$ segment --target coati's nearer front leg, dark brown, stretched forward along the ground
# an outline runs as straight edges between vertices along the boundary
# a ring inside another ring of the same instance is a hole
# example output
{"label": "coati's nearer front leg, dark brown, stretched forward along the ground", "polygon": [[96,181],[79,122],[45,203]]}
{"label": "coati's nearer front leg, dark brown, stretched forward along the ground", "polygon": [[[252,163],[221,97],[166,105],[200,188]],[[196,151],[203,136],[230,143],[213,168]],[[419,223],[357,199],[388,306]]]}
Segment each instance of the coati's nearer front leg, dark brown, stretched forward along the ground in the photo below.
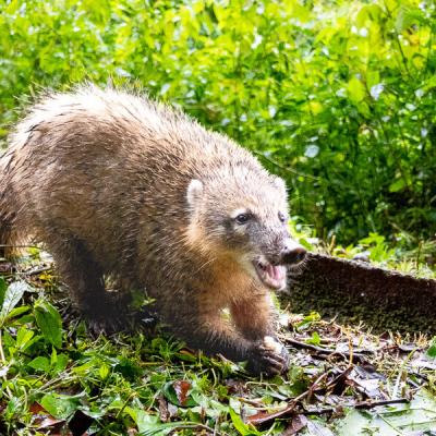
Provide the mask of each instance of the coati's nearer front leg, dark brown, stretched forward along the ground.
{"label": "coati's nearer front leg, dark brown, stretched forward along the ground", "polygon": [[171,330],[189,347],[209,355],[220,353],[234,362],[249,361],[247,370],[254,374],[275,375],[288,367],[287,359],[271,350],[264,338],[246,338],[222,319],[217,307],[193,303],[173,302],[172,305],[177,305],[179,311],[167,312],[164,316]]}

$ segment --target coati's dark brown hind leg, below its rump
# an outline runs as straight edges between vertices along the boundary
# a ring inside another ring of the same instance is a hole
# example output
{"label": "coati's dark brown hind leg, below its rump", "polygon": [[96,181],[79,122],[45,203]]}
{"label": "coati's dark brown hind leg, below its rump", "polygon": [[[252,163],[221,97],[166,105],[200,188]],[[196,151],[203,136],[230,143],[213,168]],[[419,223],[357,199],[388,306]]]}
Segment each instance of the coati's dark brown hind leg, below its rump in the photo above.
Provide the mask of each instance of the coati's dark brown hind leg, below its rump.
{"label": "coati's dark brown hind leg, below its rump", "polygon": [[73,302],[87,319],[93,334],[122,330],[124,317],[110,293],[105,290],[101,268],[93,259],[82,241],[75,237],[61,235],[48,241],[57,269],[69,287]]}

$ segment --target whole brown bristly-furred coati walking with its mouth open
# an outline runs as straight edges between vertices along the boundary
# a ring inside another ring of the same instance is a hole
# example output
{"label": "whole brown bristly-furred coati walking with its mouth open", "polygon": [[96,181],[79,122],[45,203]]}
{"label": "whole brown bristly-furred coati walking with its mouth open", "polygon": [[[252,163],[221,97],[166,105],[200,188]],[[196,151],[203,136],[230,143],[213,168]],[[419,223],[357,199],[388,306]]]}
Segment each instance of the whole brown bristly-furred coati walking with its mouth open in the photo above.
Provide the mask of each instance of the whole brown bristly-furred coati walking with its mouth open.
{"label": "whole brown bristly-furred coati walking with its mouth open", "polygon": [[190,347],[247,360],[253,373],[288,367],[286,349],[270,343],[269,291],[305,251],[287,222],[284,182],[247,150],[113,88],[44,96],[0,159],[0,244],[44,242],[94,327],[123,324],[105,290],[110,276],[156,299]]}

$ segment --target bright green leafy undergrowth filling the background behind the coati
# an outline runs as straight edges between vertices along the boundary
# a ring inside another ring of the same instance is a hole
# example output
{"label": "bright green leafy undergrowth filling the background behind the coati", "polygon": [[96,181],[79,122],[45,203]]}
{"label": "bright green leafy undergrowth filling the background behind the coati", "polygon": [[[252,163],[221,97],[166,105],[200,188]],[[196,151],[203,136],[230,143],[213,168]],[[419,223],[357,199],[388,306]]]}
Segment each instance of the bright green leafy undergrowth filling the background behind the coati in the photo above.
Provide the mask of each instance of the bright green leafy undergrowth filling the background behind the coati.
{"label": "bright green leafy undergrowth filling the background behind the coati", "polygon": [[428,238],[435,19],[420,0],[7,0],[0,133],[41,86],[133,82],[253,149],[318,235]]}

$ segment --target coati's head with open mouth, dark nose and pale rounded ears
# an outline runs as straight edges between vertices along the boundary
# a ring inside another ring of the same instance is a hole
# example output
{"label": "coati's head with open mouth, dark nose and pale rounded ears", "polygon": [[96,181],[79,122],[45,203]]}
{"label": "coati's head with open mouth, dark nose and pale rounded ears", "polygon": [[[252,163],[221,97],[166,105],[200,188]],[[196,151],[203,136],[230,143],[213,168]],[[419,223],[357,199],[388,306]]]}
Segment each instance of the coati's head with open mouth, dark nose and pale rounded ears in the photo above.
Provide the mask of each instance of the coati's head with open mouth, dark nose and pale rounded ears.
{"label": "coati's head with open mouth, dark nose and pale rounded ears", "polygon": [[287,266],[298,265],[305,250],[288,230],[284,182],[244,167],[214,171],[191,180],[187,235],[211,258],[231,257],[269,289],[286,287]]}

